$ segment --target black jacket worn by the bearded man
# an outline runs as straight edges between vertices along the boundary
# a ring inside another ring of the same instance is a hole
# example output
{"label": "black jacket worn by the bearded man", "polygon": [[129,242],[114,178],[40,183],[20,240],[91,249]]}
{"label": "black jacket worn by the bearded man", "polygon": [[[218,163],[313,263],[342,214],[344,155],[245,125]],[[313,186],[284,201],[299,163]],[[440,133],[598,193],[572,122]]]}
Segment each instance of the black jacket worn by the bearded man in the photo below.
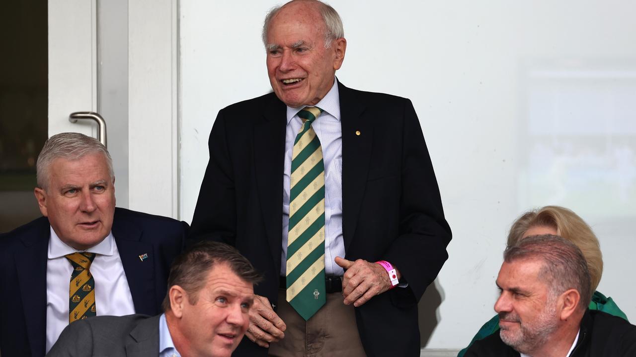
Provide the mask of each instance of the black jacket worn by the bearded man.
{"label": "black jacket worn by the bearded man", "polygon": [[[617,316],[588,310],[581,320],[579,340],[570,357],[636,356],[636,326]],[[499,332],[477,340],[464,354],[466,357],[518,357],[513,347],[504,344]]]}

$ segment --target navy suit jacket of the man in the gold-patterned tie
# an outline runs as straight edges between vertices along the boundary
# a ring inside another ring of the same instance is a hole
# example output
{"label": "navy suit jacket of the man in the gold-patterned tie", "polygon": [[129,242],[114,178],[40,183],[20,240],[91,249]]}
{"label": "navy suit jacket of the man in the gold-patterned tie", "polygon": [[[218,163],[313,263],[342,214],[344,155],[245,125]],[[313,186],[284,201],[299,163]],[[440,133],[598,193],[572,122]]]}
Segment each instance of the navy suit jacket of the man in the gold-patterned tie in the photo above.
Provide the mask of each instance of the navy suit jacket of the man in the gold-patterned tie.
{"label": "navy suit jacket of the man in the gold-patterned tie", "polygon": [[[181,253],[188,225],[167,217],[115,208],[113,236],[135,312],[155,315],[167,290],[170,264]],[[3,357],[44,356],[46,217],[0,236],[0,352]],[[139,255],[148,253],[143,261]],[[69,277],[70,279],[70,277]]]}

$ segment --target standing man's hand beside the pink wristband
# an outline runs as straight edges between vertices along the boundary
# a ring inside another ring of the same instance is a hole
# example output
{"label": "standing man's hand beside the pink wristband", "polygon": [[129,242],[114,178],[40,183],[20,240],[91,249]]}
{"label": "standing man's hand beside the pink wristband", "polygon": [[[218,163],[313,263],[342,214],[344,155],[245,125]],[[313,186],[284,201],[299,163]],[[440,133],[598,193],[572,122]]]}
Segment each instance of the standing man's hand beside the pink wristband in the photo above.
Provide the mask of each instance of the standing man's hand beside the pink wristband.
{"label": "standing man's hand beside the pink wristband", "polygon": [[335,262],[345,269],[345,275],[342,279],[342,295],[345,297],[345,305],[353,303],[356,307],[361,306],[375,295],[389,290],[392,286],[389,274],[380,264],[367,262],[363,259],[352,262],[340,257],[336,257]]}

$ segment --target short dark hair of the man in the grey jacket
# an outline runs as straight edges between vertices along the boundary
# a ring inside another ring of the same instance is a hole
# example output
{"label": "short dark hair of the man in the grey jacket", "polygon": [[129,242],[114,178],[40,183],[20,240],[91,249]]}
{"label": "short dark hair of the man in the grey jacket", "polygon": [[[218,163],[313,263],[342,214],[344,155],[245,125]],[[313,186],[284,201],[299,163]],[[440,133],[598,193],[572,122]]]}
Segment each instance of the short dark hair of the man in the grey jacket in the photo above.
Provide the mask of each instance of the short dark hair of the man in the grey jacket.
{"label": "short dark hair of the man in the grey jacket", "polygon": [[163,311],[170,311],[170,288],[179,285],[188,293],[188,302],[196,304],[198,292],[205,286],[207,274],[218,264],[228,264],[233,273],[247,283],[261,281],[261,274],[233,246],[215,241],[200,241],[181,253],[170,266],[168,292]]}

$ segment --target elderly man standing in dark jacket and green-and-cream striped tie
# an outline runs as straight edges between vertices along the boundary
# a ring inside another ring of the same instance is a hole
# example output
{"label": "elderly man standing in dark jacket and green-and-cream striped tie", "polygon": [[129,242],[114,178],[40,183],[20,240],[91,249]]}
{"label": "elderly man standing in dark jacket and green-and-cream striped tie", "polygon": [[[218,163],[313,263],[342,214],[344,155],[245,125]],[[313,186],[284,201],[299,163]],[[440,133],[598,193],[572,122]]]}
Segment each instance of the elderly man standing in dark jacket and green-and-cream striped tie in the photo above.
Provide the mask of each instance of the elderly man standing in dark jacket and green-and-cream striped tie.
{"label": "elderly man standing in dark jacket and green-and-cream striped tie", "polygon": [[340,83],[343,36],[320,1],[274,8],[273,93],[210,134],[191,236],[265,272],[238,356],[419,355],[417,302],[451,232],[413,105]]}

